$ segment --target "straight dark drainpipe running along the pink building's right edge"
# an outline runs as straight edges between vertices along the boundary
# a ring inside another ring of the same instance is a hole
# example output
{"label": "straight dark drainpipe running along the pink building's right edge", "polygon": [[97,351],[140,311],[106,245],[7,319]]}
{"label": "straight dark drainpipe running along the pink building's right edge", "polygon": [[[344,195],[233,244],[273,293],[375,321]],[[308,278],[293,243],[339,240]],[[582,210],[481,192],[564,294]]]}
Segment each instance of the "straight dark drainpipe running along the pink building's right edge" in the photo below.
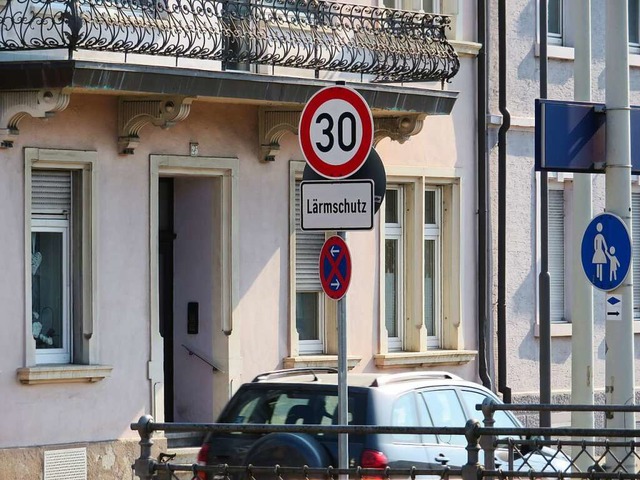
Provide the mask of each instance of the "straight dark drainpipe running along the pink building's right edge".
{"label": "straight dark drainpipe running along the pink building's right edge", "polygon": [[[487,227],[487,206],[489,205],[489,170],[487,162],[487,2],[479,0],[477,3],[478,12],[477,32],[478,43],[480,43],[480,51],[478,52],[478,89],[476,97],[478,101],[478,130],[476,138],[478,139],[478,375],[482,384],[492,389],[491,374],[488,372],[488,360],[492,358],[491,343],[487,339],[493,338],[491,335],[491,322],[489,321],[490,313],[488,305],[489,289],[491,284],[491,276],[489,263],[488,246],[489,229]],[[488,351],[487,351],[488,350]]]}

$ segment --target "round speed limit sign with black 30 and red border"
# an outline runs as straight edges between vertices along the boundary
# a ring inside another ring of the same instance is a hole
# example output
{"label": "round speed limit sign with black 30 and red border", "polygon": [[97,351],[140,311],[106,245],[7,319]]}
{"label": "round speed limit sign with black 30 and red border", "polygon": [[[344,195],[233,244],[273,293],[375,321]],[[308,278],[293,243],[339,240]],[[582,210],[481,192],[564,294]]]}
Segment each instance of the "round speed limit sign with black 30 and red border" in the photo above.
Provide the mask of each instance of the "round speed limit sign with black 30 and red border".
{"label": "round speed limit sign with black 30 and red border", "polygon": [[305,105],[298,132],[309,166],[325,178],[341,179],[367,159],[373,145],[373,117],[355,90],[326,87]]}

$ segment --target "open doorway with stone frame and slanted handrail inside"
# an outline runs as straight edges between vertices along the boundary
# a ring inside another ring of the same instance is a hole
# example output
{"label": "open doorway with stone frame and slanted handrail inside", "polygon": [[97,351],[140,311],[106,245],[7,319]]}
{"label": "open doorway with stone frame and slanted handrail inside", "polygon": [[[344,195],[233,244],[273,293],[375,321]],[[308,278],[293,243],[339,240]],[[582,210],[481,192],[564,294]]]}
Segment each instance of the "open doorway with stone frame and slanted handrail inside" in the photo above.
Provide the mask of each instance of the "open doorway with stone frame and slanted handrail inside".
{"label": "open doorway with stone frame and slanted handrail inside", "polygon": [[214,421],[241,363],[229,356],[237,172],[237,159],[151,155],[149,379],[160,421]]}

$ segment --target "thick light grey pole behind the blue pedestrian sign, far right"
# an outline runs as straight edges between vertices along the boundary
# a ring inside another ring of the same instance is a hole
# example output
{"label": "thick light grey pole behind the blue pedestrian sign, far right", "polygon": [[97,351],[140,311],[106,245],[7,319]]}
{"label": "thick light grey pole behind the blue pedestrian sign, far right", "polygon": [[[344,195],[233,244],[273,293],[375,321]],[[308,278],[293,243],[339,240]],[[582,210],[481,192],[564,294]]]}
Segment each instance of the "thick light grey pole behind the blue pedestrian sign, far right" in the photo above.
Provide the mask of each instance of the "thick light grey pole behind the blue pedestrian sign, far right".
{"label": "thick light grey pole behind the blue pedestrian sign, far right", "polygon": [[[628,2],[606,3],[606,209],[622,218],[631,231]],[[606,402],[611,405],[634,403],[632,283],[630,273],[613,291],[622,298],[622,315],[619,320],[607,319],[605,325],[605,393]],[[632,413],[607,415],[606,428],[632,429],[634,426]],[[618,459],[624,457],[623,447],[612,450]],[[634,456],[631,457],[625,462],[627,471],[635,471]],[[609,461],[613,459],[610,457]]]}

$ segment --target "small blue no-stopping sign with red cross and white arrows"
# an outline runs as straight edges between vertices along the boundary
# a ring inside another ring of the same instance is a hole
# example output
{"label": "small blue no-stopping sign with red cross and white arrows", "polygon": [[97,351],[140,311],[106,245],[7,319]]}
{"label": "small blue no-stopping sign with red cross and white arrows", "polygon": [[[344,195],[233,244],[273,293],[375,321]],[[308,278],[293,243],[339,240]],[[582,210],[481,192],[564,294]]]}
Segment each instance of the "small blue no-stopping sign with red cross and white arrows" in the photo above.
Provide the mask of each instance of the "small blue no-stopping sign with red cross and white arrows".
{"label": "small blue no-stopping sign with red cross and white arrows", "polygon": [[320,283],[330,298],[340,300],[351,280],[351,255],[341,237],[328,238],[320,250]]}

